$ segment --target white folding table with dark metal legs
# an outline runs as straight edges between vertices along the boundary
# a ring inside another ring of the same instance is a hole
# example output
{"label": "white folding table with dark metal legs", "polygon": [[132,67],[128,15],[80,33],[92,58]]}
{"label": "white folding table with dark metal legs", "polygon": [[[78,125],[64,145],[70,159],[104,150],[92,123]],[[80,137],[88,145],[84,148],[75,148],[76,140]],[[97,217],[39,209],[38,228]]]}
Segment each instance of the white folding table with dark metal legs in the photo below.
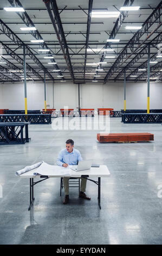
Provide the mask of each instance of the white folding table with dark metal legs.
{"label": "white folding table with dark metal legs", "polygon": [[[56,166],[57,168],[58,166]],[[74,166],[75,167],[75,166]],[[85,178],[87,180],[90,180],[94,182],[96,185],[98,185],[98,204],[99,208],[101,209],[100,205],[100,197],[101,197],[101,177],[108,177],[110,175],[109,170],[107,166],[100,165],[99,167],[91,167],[89,170],[82,170],[80,172],[75,172],[74,170],[70,169],[69,175],[62,175],[59,174],[59,172],[56,174],[52,174],[50,172],[50,175],[33,175],[33,173],[37,172],[38,168],[35,168],[33,170],[29,170],[29,172],[23,173],[20,175],[21,178],[29,178],[30,179],[30,206],[28,210],[31,209],[31,206],[34,203],[34,185],[38,184],[39,182],[49,179],[49,178],[63,178],[63,177],[69,177],[69,178]],[[34,182],[35,178],[40,178],[41,180]],[[98,178],[98,181],[89,179],[89,178]]]}

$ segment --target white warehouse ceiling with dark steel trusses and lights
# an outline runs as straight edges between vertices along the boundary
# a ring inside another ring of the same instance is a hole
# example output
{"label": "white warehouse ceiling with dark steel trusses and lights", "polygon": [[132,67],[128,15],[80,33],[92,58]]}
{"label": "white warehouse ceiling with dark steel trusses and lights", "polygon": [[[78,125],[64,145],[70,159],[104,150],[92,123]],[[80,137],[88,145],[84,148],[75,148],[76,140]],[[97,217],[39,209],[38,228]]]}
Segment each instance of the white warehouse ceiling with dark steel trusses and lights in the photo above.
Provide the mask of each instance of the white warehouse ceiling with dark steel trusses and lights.
{"label": "white warehouse ceiling with dark steel trusses and lights", "polygon": [[[46,81],[55,83],[108,83],[124,81],[124,77],[126,81],[147,81],[150,62],[151,80],[161,81],[162,51],[161,55],[158,52],[162,43],[161,3],[1,0],[0,82],[23,81],[24,58],[27,81],[44,81],[44,74]],[[23,7],[24,11],[6,11],[5,7]],[[140,8],[122,11],[121,7]],[[109,11],[115,11],[116,17],[112,17],[114,13],[104,17]],[[126,26],[139,28],[126,29]],[[27,27],[36,30],[21,30]],[[38,39],[43,41],[31,42]],[[120,41],[108,42],[108,39]]]}

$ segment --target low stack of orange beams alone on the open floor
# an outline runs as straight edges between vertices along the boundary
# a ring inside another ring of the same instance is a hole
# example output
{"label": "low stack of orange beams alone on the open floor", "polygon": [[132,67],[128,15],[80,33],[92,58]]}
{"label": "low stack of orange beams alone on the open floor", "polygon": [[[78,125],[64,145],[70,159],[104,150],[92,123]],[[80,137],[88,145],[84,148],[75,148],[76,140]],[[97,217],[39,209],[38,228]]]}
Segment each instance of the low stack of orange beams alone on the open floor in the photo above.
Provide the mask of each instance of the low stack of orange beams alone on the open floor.
{"label": "low stack of orange beams alone on the open floor", "polygon": [[99,142],[148,142],[153,141],[154,136],[148,132],[138,133],[98,133]]}

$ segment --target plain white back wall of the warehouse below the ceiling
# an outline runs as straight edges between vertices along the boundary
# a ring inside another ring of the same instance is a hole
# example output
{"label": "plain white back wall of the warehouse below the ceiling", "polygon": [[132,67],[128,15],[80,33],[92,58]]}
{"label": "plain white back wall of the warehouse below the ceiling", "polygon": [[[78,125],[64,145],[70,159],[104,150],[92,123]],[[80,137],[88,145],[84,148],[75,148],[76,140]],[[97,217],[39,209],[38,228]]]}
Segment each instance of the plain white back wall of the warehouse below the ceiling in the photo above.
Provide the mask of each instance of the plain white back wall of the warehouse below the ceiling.
{"label": "plain white back wall of the warehouse below the ceiling", "polygon": [[[47,104],[60,109],[78,107],[78,85],[73,83],[47,83]],[[162,83],[150,83],[150,108],[162,108]],[[28,109],[44,108],[44,84],[27,83]],[[80,84],[81,108],[124,108],[124,82]],[[0,84],[0,108],[24,109],[24,85]],[[126,83],[126,108],[147,108],[147,83]]]}

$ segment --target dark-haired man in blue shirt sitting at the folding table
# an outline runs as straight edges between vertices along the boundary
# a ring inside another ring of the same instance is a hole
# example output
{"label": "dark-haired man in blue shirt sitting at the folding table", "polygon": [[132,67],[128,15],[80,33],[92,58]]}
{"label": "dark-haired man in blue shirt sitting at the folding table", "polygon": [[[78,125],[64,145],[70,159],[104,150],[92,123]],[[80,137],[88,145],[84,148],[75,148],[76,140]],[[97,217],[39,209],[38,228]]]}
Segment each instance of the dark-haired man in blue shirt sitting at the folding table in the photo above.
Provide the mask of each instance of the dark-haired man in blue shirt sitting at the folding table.
{"label": "dark-haired man in blue shirt sitting at the folding table", "polygon": [[[69,165],[76,165],[78,161],[82,161],[80,151],[74,149],[73,139],[68,139],[66,141],[66,149],[60,151],[59,156],[57,157],[56,163],[58,166],[68,167]],[[90,200],[90,197],[87,197],[84,193],[86,191],[87,179],[81,178],[81,187],[79,197],[83,199]],[[69,178],[63,178],[63,187],[64,187],[64,200],[63,204],[69,202]]]}

